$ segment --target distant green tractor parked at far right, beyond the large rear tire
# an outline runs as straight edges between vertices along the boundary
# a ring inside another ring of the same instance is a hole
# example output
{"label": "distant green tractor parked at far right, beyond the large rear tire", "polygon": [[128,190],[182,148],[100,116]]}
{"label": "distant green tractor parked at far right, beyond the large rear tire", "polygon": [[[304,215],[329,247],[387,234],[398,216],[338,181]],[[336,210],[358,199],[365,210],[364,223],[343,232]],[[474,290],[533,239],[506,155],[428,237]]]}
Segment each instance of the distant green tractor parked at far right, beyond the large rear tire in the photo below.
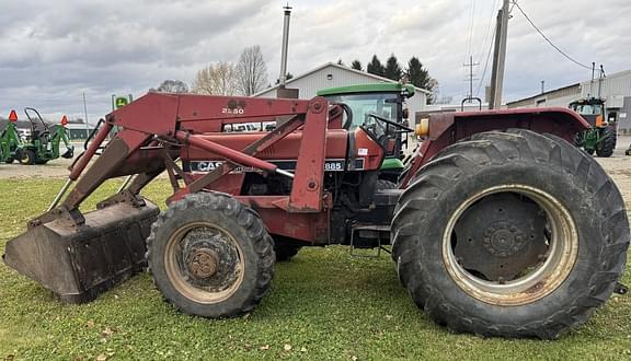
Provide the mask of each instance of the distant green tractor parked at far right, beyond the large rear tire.
{"label": "distant green tractor parked at far right, beyond the large rear tire", "polygon": [[582,98],[570,103],[570,108],[578,113],[592,129],[576,133],[574,143],[587,153],[598,156],[611,156],[616,149],[616,119],[605,118],[605,100],[599,97]]}

